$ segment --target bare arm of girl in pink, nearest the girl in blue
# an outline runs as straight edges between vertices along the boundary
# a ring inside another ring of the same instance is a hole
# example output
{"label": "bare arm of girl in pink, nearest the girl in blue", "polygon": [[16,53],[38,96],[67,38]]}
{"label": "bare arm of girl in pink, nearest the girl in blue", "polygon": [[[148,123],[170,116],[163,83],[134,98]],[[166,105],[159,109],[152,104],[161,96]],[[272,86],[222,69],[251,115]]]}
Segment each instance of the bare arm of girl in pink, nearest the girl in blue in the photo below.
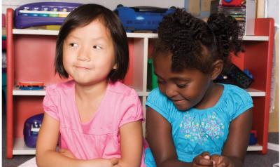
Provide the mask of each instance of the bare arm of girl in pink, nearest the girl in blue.
{"label": "bare arm of girl in pink, nearest the girl in blue", "polygon": [[143,151],[142,122],[134,121],[120,127],[121,159],[118,166],[139,167]]}

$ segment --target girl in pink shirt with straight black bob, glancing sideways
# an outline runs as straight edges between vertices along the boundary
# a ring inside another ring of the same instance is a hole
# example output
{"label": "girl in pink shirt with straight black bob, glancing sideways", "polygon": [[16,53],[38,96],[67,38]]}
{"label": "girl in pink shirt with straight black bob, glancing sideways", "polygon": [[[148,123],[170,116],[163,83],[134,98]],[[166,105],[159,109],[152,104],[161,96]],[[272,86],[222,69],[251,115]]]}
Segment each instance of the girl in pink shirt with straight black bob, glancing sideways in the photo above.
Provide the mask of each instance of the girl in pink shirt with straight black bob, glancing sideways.
{"label": "girl in pink shirt with straight black bob, glancing sideways", "polygon": [[87,4],[67,16],[55,71],[73,80],[46,88],[38,166],[145,166],[141,102],[121,82],[128,63],[127,36],[112,11]]}

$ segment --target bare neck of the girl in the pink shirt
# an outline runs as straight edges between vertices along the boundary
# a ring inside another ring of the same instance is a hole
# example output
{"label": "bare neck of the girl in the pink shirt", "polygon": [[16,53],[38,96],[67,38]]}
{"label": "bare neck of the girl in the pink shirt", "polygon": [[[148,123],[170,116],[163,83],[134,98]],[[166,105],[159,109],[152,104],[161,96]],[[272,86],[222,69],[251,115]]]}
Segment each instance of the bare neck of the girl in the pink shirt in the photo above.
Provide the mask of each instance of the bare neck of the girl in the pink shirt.
{"label": "bare neck of the girl in the pink shirt", "polygon": [[93,85],[75,83],[75,94],[81,100],[90,100],[103,96],[108,86],[108,81],[102,81]]}

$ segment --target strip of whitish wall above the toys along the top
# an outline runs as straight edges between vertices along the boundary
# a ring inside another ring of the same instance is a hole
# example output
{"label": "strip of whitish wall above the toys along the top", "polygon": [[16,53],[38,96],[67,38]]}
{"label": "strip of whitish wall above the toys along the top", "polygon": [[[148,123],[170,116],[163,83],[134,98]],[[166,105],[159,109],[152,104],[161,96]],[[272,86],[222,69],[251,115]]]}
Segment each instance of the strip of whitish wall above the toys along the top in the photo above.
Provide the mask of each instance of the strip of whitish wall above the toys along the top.
{"label": "strip of whitish wall above the toys along the top", "polygon": [[[42,2],[43,0],[3,0],[2,1],[2,13],[6,13],[6,8],[18,8],[29,3]],[[184,7],[184,0],[49,0],[57,2],[75,2],[82,4],[100,4],[106,8],[114,10],[118,4],[123,4],[123,6],[156,6],[160,8],[169,8],[171,6]]]}

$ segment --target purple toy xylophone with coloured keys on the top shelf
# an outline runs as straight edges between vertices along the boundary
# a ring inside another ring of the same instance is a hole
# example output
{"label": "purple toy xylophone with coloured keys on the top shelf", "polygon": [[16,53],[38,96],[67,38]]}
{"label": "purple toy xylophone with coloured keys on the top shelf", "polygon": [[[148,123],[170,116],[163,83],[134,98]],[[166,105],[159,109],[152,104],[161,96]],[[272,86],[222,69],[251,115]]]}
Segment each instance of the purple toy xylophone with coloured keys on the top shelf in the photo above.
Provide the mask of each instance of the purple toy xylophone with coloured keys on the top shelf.
{"label": "purple toy xylophone with coloured keys on the top shelf", "polygon": [[66,15],[77,3],[38,2],[26,4],[15,9],[15,27],[19,29],[39,25],[62,25]]}

